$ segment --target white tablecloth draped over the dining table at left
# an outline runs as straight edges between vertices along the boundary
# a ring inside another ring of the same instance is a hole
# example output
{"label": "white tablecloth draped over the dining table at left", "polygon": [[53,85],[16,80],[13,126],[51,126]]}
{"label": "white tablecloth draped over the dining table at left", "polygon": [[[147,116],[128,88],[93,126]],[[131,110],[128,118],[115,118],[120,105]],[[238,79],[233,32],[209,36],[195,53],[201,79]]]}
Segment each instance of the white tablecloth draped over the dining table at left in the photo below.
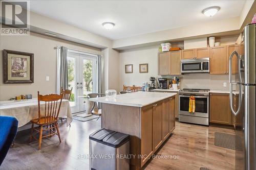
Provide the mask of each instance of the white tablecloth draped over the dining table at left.
{"label": "white tablecloth draped over the dining table at left", "polygon": [[[59,102],[58,102],[59,103]],[[41,115],[45,115],[45,102],[40,102]],[[26,101],[0,101],[0,115],[13,116],[18,120],[18,127],[22,127],[32,119],[38,118],[37,98]],[[59,117],[67,118],[67,126],[72,122],[71,108],[68,100],[62,100]]]}

